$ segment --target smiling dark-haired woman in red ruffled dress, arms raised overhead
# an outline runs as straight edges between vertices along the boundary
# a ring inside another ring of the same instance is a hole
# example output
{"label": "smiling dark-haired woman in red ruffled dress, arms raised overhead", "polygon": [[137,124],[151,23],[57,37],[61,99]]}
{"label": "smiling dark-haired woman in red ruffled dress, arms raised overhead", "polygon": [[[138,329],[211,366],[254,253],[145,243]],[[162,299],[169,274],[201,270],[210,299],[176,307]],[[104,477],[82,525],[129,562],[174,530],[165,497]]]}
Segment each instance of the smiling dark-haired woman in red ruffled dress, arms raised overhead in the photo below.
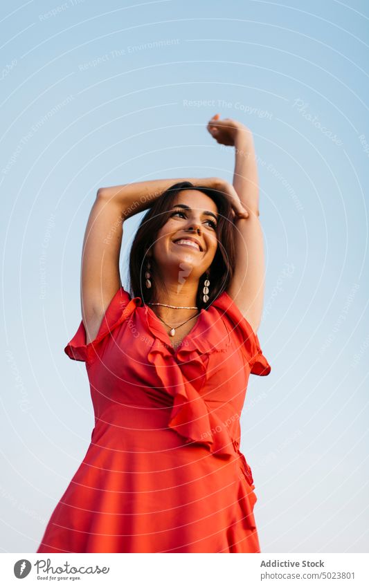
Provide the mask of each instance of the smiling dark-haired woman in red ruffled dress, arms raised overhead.
{"label": "smiling dark-haired woman in red ruffled dress, arms raised overhead", "polygon": [[[153,180],[99,189],[84,238],[82,322],[64,349],[86,363],[95,427],[37,552],[260,552],[240,452],[264,259],[249,129],[215,115],[235,147],[233,185]],[[173,185],[174,184],[174,185]],[[119,272],[123,224],[147,209]]]}

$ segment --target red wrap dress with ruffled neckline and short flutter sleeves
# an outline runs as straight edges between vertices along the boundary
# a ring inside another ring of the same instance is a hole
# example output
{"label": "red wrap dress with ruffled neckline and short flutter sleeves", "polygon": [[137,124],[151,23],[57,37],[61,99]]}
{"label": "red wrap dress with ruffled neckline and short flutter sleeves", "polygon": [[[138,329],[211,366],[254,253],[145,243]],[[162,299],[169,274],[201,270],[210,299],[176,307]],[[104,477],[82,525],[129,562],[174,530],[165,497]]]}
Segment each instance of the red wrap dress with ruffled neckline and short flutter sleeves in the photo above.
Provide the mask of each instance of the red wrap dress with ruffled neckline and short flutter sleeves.
{"label": "red wrap dress with ruffled neckline and short flutter sleeves", "polygon": [[251,469],[240,452],[250,373],[271,371],[224,291],[176,349],[120,288],[84,361],[95,427],[37,552],[260,552]]}

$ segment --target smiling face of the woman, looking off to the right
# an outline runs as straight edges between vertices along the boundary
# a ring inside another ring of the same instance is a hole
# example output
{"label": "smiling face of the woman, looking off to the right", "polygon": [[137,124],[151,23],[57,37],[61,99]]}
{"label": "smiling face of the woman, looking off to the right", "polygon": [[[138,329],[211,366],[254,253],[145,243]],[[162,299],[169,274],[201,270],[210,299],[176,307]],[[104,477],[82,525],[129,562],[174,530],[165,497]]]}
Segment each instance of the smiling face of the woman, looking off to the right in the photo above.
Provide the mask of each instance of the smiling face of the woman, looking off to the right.
{"label": "smiling face of the woman, looking off to the right", "polygon": [[195,189],[177,194],[152,249],[163,277],[165,271],[201,277],[215,257],[217,222],[217,205],[206,194]]}

